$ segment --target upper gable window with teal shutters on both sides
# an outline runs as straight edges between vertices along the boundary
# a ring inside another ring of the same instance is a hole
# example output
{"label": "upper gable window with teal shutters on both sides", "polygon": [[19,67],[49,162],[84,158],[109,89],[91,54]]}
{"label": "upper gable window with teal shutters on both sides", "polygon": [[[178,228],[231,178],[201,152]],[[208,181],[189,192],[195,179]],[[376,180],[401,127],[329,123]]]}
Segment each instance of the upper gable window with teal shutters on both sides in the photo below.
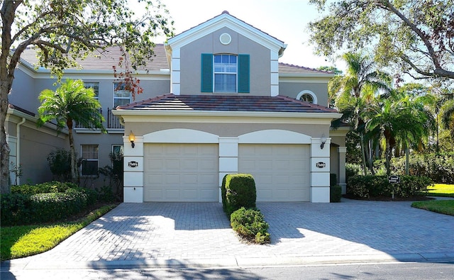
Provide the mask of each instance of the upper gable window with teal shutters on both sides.
{"label": "upper gable window with teal shutters on both sides", "polygon": [[201,54],[201,92],[250,92],[249,55]]}

